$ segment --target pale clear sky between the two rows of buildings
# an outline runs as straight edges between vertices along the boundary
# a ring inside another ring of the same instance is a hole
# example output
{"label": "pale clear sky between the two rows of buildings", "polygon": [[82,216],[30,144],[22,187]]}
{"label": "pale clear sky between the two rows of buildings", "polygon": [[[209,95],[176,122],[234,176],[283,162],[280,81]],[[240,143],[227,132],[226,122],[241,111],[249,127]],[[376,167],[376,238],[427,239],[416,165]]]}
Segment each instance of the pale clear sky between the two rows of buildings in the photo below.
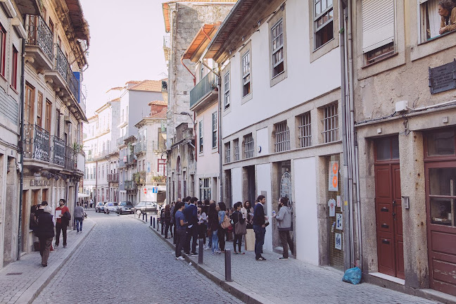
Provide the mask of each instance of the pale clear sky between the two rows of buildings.
{"label": "pale clear sky between the two rows of buildings", "polygon": [[80,0],[89,23],[90,47],[82,91],[87,117],[106,103],[106,91],[129,80],[160,80],[167,74],[163,54],[163,0]]}

